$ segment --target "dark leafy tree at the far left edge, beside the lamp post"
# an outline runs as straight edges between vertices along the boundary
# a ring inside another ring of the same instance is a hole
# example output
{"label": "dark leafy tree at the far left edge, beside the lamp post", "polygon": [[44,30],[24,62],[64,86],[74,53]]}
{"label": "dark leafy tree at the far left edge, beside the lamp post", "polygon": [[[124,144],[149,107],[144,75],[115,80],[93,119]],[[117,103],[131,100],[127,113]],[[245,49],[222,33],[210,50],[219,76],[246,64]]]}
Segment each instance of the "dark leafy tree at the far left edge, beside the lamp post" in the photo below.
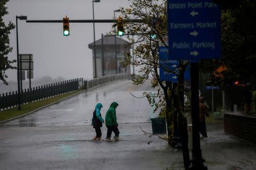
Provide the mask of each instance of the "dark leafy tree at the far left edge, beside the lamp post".
{"label": "dark leafy tree at the far left edge, beside the lamp post", "polygon": [[6,85],[8,85],[6,82],[6,78],[8,78],[6,70],[16,69],[16,67],[11,65],[16,62],[16,60],[10,61],[7,56],[13,50],[13,48],[10,47],[9,34],[11,29],[15,28],[15,25],[11,22],[5,25],[3,22],[3,16],[8,14],[7,7],[5,6],[8,1],[9,0],[1,0],[0,2],[0,80]]}

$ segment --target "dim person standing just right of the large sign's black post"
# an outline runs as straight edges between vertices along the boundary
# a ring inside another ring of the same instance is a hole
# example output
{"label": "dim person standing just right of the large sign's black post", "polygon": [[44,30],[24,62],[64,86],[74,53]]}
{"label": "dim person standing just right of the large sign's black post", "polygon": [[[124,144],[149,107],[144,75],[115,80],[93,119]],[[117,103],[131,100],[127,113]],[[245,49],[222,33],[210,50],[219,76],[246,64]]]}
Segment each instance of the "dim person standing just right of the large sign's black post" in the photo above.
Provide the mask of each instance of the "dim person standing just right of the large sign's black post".
{"label": "dim person standing just right of the large sign's black post", "polygon": [[209,117],[207,112],[207,106],[204,104],[204,97],[199,97],[199,124],[200,124],[200,133],[203,137],[207,138],[207,131],[205,125],[205,116]]}

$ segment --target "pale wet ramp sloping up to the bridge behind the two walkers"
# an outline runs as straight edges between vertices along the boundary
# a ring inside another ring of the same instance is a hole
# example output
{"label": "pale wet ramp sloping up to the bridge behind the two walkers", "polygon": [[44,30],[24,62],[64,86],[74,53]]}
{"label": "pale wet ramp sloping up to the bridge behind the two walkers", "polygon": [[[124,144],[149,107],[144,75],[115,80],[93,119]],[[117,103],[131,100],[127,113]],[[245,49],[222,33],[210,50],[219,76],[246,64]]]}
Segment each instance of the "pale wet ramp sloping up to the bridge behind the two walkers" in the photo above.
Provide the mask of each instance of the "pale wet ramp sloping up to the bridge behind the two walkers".
{"label": "pale wet ramp sloping up to the bridge behind the two walkers", "polygon": [[142,86],[134,86],[131,80],[114,82],[61,101],[25,117],[6,122],[4,126],[90,125],[96,104],[101,103],[103,105],[101,115],[105,119],[106,111],[113,101],[119,104],[116,109],[118,124],[149,122],[150,118],[156,117],[158,113],[152,112],[154,107],[150,107],[146,97],[139,99],[134,97],[143,96],[144,91],[153,91],[149,82]]}

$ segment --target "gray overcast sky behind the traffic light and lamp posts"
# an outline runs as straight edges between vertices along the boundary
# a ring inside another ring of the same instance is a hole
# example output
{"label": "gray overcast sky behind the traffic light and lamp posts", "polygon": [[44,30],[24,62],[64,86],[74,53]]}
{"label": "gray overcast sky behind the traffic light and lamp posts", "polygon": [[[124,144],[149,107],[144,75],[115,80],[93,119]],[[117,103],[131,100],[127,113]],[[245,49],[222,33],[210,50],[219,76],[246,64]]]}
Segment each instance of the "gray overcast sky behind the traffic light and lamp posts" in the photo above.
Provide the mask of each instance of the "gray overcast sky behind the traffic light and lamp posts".
{"label": "gray overcast sky behind the traffic light and lamp posts", "polygon": [[[101,0],[94,3],[95,19],[112,19],[114,10],[128,7],[127,0]],[[7,5],[9,15],[5,23],[15,24],[16,15],[26,15],[28,20],[92,19],[90,0],[10,0]],[[118,12],[115,13],[118,17]],[[96,40],[101,33],[109,32],[111,23],[96,23]],[[34,78],[49,75],[71,78],[93,78],[92,50],[88,44],[93,42],[92,23],[70,23],[70,36],[63,36],[62,23],[26,23],[18,21],[19,53],[33,54]],[[16,29],[11,31],[10,45],[13,52],[9,59],[16,59]],[[16,80],[16,71],[7,71],[8,80]]]}

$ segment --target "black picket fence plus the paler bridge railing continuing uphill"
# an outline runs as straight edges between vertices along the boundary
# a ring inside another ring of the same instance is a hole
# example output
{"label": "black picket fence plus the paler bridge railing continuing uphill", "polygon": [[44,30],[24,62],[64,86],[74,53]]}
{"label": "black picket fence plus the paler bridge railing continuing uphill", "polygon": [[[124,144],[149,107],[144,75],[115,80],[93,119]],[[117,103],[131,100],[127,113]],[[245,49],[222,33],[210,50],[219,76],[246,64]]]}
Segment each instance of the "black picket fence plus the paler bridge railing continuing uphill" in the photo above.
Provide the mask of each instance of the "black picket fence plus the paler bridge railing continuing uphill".
{"label": "black picket fence plus the paler bridge railing continuing uphill", "polygon": [[[48,97],[67,94],[79,88],[88,90],[93,87],[100,86],[109,82],[113,82],[119,79],[130,79],[129,74],[115,74],[102,76],[100,78],[92,80],[83,80],[82,78],[67,80],[59,83],[46,84],[44,86],[33,87],[31,89],[25,89],[20,92],[20,104],[27,104],[32,101],[43,100]],[[0,111],[2,109],[8,109],[18,105],[18,92],[9,92],[6,94],[0,94]]]}

